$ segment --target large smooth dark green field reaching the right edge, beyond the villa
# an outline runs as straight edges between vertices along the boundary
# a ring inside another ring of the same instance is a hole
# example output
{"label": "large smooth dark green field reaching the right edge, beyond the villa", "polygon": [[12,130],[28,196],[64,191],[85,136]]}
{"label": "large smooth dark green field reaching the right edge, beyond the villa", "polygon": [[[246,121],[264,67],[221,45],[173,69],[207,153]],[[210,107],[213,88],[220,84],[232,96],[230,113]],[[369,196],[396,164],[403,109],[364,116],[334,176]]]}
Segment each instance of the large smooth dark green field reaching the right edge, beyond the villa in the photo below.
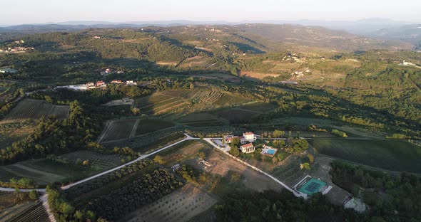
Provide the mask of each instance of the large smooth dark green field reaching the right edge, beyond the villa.
{"label": "large smooth dark green field reaching the right edge, beyond the villa", "polygon": [[308,139],[320,153],[390,171],[421,173],[421,147],[403,140]]}

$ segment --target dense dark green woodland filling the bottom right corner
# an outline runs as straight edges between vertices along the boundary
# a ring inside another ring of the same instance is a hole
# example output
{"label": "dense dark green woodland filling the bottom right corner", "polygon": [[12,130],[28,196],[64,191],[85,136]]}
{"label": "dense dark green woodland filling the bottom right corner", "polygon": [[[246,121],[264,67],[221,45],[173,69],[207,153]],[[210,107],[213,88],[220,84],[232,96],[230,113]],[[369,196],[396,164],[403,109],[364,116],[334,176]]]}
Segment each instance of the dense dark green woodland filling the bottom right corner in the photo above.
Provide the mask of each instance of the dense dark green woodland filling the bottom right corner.
{"label": "dense dark green woodland filling the bottom right corner", "polygon": [[421,220],[421,179],[413,174],[400,175],[365,169],[343,162],[333,162],[333,183],[362,196],[370,206],[370,216],[382,221]]}

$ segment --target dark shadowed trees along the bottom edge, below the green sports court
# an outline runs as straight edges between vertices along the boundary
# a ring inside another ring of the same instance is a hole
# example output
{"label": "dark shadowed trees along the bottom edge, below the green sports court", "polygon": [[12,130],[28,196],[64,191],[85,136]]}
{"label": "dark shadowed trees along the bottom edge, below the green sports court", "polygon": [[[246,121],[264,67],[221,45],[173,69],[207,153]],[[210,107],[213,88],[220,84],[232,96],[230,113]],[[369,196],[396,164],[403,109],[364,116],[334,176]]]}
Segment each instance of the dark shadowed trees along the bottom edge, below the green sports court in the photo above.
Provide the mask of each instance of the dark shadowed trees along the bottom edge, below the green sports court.
{"label": "dark shadowed trees along the bottom edge, below the green sports court", "polygon": [[217,221],[370,221],[329,203],[321,194],[308,201],[289,191],[234,192],[215,206]]}

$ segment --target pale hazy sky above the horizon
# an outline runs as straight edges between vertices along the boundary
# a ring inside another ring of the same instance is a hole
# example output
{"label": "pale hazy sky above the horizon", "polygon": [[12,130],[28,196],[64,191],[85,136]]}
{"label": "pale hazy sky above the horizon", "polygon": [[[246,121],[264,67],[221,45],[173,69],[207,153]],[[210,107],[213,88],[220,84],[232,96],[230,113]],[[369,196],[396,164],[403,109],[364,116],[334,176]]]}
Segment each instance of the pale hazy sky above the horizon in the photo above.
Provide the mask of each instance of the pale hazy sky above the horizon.
{"label": "pale hazy sky above the horizon", "polygon": [[421,22],[421,1],[2,0],[0,24],[61,21],[264,21],[392,18]]}

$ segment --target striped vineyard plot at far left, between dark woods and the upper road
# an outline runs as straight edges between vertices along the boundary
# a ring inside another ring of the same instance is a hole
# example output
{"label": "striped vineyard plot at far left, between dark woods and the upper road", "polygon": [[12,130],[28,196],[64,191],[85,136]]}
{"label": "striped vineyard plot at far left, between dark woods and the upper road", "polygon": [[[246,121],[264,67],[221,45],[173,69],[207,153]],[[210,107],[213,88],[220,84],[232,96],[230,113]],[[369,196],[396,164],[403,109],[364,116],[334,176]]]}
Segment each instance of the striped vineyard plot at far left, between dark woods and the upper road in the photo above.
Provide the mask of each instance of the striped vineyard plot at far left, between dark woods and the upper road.
{"label": "striped vineyard plot at far left, between dark woods and the upper road", "polygon": [[58,119],[69,117],[69,106],[51,105],[44,100],[25,99],[19,102],[13,110],[7,115],[6,120],[26,120],[40,119],[54,115]]}

